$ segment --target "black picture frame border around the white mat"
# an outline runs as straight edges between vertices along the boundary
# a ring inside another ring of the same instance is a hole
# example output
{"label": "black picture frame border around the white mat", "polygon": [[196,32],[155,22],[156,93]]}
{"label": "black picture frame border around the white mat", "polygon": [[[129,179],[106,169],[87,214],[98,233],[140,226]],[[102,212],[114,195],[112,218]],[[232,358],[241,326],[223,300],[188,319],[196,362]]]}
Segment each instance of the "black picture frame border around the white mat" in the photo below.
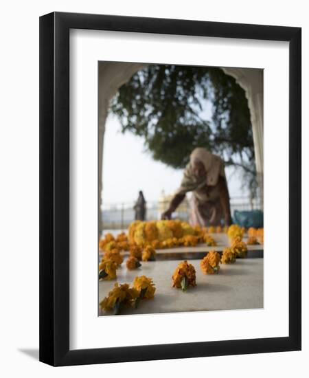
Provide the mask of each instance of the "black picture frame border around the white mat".
{"label": "black picture frame border around the white mat", "polygon": [[[69,30],[289,43],[289,335],[69,349]],[[52,366],[301,350],[301,28],[53,12],[40,18],[40,361]]]}

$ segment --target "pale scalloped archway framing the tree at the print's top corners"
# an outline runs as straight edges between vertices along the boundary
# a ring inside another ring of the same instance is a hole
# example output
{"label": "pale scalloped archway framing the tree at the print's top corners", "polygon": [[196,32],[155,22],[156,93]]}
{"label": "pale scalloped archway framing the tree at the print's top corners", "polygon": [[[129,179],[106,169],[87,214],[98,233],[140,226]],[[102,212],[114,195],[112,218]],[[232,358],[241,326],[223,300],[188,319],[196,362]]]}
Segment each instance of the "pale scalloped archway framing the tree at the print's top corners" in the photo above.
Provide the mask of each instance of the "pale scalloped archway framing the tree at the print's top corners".
{"label": "pale scalloped archway framing the tree at the print's top corners", "polygon": [[[108,104],[121,87],[139,69],[146,67],[144,63],[100,62],[98,84],[98,127],[99,127],[99,209],[102,205],[102,166],[105,123]],[[233,76],[244,89],[248,100],[253,129],[253,144],[255,164],[258,173],[261,208],[263,208],[263,70],[249,68],[222,68],[225,74]],[[101,216],[99,216],[99,233],[102,231]]]}

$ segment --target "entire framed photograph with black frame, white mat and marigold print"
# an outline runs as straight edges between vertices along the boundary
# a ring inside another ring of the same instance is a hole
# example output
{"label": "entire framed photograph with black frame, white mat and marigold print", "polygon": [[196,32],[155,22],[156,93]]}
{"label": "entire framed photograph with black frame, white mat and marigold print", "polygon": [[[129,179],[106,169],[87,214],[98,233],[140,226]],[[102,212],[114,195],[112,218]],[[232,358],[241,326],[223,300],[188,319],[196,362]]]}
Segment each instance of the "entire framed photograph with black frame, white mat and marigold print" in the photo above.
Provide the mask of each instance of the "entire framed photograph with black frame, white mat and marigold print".
{"label": "entire framed photograph with black frame, white mat and marigold print", "polygon": [[301,28],[41,16],[41,362],[300,349]]}

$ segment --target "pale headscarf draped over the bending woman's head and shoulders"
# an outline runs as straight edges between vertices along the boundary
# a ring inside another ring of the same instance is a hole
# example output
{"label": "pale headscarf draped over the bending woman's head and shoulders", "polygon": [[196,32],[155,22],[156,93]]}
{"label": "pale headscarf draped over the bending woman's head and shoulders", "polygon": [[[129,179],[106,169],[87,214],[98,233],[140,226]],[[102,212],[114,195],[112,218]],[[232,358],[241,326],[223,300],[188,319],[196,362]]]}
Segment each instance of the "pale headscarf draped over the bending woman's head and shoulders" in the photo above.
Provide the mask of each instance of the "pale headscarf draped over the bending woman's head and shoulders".
{"label": "pale headscarf draped over the bending woman's head and shoulders", "polygon": [[[193,171],[194,161],[198,160],[203,163],[206,176],[196,177]],[[225,169],[222,159],[212,153],[209,153],[205,148],[195,148],[190,155],[190,162],[185,167],[183,173],[183,181],[181,187],[176,191],[176,194],[184,194],[203,186],[216,186],[219,176],[225,177]]]}

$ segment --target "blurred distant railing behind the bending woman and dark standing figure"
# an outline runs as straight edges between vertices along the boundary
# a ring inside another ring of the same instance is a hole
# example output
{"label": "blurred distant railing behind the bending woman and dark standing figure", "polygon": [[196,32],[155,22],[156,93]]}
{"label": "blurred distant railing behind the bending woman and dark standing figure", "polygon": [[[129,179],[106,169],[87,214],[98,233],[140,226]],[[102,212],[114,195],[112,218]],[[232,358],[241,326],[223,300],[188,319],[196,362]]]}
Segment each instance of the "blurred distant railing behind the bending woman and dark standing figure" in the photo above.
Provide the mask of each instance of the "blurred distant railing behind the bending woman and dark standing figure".
{"label": "blurred distant railing behind the bending woman and dark standing figure", "polygon": [[[147,201],[146,220],[161,219],[163,211],[167,210],[170,201]],[[126,230],[130,223],[135,220],[134,202],[104,203],[102,205],[102,222],[104,230]],[[260,209],[259,199],[248,197],[232,197],[230,199],[231,214],[234,210],[257,210]],[[179,206],[173,217],[188,221],[190,214],[189,204],[183,203]]]}

